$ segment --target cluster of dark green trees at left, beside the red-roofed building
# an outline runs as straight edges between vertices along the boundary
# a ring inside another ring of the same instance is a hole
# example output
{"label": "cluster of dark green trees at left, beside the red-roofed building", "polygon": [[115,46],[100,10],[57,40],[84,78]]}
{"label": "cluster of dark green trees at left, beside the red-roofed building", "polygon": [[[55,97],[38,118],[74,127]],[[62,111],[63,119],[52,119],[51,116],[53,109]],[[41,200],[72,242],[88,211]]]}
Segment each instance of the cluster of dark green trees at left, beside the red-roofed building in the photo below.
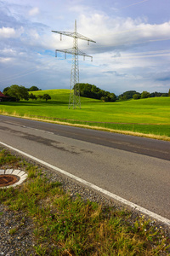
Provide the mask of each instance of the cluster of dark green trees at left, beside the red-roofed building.
{"label": "cluster of dark green trees at left, beside the red-roofed building", "polygon": [[31,88],[26,88],[25,86],[14,84],[4,88],[3,94],[5,96],[8,96],[8,100],[11,102],[20,102],[20,100],[28,101],[29,99],[46,100],[46,102],[48,100],[51,100],[51,96],[49,96],[48,94],[36,96],[32,92],[29,93],[29,91],[36,91],[36,90],[41,90],[41,89],[38,89],[37,86],[31,86]]}

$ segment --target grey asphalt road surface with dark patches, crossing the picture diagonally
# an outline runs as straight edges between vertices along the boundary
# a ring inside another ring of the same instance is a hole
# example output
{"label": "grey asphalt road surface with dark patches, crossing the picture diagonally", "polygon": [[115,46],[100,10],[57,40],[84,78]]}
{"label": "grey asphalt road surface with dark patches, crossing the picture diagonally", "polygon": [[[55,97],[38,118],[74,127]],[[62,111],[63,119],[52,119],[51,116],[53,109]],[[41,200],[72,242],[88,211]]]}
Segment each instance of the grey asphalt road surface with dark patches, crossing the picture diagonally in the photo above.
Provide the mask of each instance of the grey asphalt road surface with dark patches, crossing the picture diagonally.
{"label": "grey asphalt road surface with dark patches, crossing the picture diagonally", "polygon": [[170,143],[0,115],[0,142],[170,219]]}

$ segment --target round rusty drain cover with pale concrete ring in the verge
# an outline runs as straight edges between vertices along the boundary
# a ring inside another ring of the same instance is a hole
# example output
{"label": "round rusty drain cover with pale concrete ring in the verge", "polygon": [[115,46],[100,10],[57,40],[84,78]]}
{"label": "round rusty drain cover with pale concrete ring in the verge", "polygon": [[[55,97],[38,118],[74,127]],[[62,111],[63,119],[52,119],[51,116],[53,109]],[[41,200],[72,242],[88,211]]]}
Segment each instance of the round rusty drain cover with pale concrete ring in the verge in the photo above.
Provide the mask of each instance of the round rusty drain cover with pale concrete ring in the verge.
{"label": "round rusty drain cover with pale concrete ring in the verge", "polygon": [[26,180],[28,175],[20,170],[0,170],[0,189],[15,187]]}

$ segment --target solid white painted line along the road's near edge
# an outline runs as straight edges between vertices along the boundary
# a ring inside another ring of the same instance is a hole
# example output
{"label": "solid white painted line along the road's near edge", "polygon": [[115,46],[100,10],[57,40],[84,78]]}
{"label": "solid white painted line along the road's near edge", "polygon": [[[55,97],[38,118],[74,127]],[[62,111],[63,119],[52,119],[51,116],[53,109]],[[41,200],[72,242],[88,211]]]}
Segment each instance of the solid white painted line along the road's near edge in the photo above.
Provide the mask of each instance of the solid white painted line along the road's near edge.
{"label": "solid white painted line along the road's near edge", "polygon": [[105,189],[101,189],[98,186],[94,185],[93,183],[89,183],[89,182],[85,181],[81,177],[77,177],[77,176],[75,176],[75,175],[73,175],[73,174],[71,174],[69,172],[65,172],[64,170],[61,170],[61,169],[59,169],[56,166],[48,164],[47,162],[45,162],[43,160],[37,159],[37,157],[34,157],[31,154],[27,154],[27,153],[21,151],[20,149],[13,148],[13,147],[9,146],[8,144],[2,143],[2,142],[0,142],[0,144],[2,144],[3,146],[5,146],[7,148],[11,148],[12,150],[14,150],[14,151],[16,151],[16,152],[18,152],[20,154],[23,154],[26,157],[31,158],[32,160],[35,160],[35,161],[39,162],[43,166],[48,166],[49,168],[54,169],[55,171],[60,172],[60,173],[64,174],[67,177],[71,177],[72,179],[77,180],[79,183],[82,183],[82,184],[90,187],[91,189],[97,190],[100,193],[102,193],[104,195],[107,195],[107,196],[111,197],[112,199],[114,199],[116,201],[120,201],[120,202],[122,202],[122,204],[127,205],[128,207],[131,207],[134,210],[137,210],[137,211],[142,212],[142,213],[144,213],[146,215],[149,215],[150,218],[154,218],[157,221],[160,221],[161,223],[167,224],[168,226],[170,226],[170,219],[168,219],[168,218],[161,217],[161,215],[158,215],[155,212],[150,212],[149,210],[145,209],[144,207],[139,207],[138,205],[134,204],[131,201],[127,201],[126,199],[124,199],[124,198],[122,198],[122,197],[120,197],[118,195],[115,195],[115,194],[113,194],[113,193],[111,193],[111,192],[109,192],[109,191],[107,191]]}

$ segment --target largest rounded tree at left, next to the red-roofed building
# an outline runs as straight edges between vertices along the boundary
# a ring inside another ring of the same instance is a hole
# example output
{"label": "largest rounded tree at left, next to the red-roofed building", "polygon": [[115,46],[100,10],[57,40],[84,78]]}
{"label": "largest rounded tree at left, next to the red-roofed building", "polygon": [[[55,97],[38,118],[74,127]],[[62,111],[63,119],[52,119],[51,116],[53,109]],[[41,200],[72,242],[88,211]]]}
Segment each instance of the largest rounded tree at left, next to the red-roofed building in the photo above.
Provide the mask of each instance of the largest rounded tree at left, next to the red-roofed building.
{"label": "largest rounded tree at left, next to the red-roofed building", "polygon": [[16,99],[16,102],[19,102],[21,99],[24,99],[28,101],[29,99],[29,94],[28,91],[26,90],[26,87],[22,85],[11,85],[9,89],[6,91],[7,96],[14,97]]}

